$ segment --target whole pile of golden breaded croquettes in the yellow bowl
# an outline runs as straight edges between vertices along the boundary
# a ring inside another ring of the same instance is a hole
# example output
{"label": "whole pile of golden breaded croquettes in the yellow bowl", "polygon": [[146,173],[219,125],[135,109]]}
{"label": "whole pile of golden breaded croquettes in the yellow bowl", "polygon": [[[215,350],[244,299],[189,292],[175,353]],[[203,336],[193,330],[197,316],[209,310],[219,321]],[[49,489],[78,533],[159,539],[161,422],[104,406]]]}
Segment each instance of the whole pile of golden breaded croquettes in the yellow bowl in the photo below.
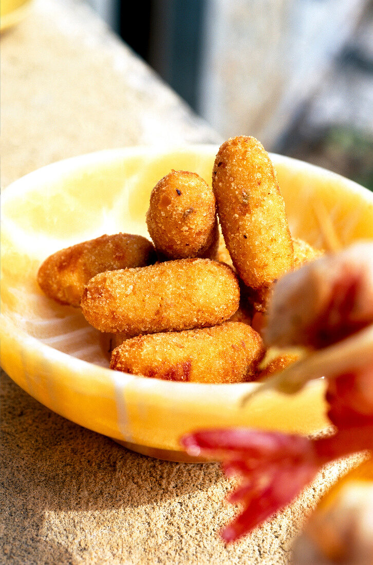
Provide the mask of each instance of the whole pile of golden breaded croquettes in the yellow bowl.
{"label": "whole pile of golden breaded croquettes in the yellow bowl", "polygon": [[38,271],[49,298],[80,307],[111,334],[110,368],[241,383],[296,360],[281,355],[262,367],[260,328],[275,282],[322,252],[290,236],[276,171],[259,141],[225,141],[212,188],[194,172],[172,170],[151,192],[146,224],[153,244],[104,235],[57,251]]}

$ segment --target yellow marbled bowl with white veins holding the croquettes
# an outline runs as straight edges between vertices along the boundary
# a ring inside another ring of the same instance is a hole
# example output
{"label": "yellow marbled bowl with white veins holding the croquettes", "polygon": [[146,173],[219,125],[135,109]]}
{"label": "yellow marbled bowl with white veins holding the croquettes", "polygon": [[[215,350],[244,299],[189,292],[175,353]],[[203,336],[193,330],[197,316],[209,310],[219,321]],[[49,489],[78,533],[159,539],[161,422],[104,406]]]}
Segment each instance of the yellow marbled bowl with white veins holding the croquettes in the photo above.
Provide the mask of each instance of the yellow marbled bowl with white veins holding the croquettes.
{"label": "yellow marbled bowl with white veins holding the croquettes", "polygon": [[[46,298],[36,283],[51,253],[103,233],[146,236],[149,194],[163,175],[188,169],[211,179],[218,147],[101,151],[44,167],[2,198],[2,367],[45,406],[124,445],[185,460],[179,438],[197,428],[246,425],[309,433],[327,425],[322,380],[292,396],[267,391],[244,408],[255,383],[173,383],[108,368],[99,333],[78,309]],[[338,175],[272,155],[290,229],[323,246],[314,210],[323,210],[343,245],[373,238],[373,195]]]}

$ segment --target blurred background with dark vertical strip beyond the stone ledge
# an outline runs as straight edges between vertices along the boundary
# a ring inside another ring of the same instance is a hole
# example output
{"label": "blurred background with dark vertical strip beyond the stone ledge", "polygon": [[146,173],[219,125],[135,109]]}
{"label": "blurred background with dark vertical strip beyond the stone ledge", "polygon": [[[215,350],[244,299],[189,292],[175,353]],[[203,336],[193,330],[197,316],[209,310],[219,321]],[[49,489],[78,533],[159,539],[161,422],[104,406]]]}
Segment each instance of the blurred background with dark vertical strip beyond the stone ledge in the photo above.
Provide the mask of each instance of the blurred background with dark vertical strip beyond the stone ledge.
{"label": "blurred background with dark vertical strip beyond the stone ledge", "polygon": [[86,0],[223,138],[373,190],[372,0]]}

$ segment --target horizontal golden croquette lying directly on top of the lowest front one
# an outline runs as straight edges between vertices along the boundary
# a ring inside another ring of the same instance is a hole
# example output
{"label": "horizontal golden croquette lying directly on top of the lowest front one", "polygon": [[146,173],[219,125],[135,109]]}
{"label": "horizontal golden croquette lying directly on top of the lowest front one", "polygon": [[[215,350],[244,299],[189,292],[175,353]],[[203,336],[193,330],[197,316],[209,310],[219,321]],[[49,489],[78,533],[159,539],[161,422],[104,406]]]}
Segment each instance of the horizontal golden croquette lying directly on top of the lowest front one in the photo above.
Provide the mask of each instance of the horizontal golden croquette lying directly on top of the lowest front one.
{"label": "horizontal golden croquette lying directly on top of the lowest front one", "polygon": [[102,332],[157,333],[203,328],[232,316],[240,290],[232,269],[210,259],[179,259],[100,273],[81,297]]}

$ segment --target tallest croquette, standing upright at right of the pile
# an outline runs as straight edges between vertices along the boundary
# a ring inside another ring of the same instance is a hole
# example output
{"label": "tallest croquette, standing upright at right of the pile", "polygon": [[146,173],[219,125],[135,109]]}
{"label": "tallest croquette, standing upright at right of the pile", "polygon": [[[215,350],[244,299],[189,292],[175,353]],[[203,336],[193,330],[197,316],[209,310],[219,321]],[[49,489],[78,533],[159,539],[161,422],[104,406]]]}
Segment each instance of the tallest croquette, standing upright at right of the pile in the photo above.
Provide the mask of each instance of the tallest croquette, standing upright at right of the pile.
{"label": "tallest croquette, standing upright at right of the pile", "polygon": [[212,171],[220,225],[238,275],[260,292],[294,267],[276,172],[254,137],[225,141]]}

